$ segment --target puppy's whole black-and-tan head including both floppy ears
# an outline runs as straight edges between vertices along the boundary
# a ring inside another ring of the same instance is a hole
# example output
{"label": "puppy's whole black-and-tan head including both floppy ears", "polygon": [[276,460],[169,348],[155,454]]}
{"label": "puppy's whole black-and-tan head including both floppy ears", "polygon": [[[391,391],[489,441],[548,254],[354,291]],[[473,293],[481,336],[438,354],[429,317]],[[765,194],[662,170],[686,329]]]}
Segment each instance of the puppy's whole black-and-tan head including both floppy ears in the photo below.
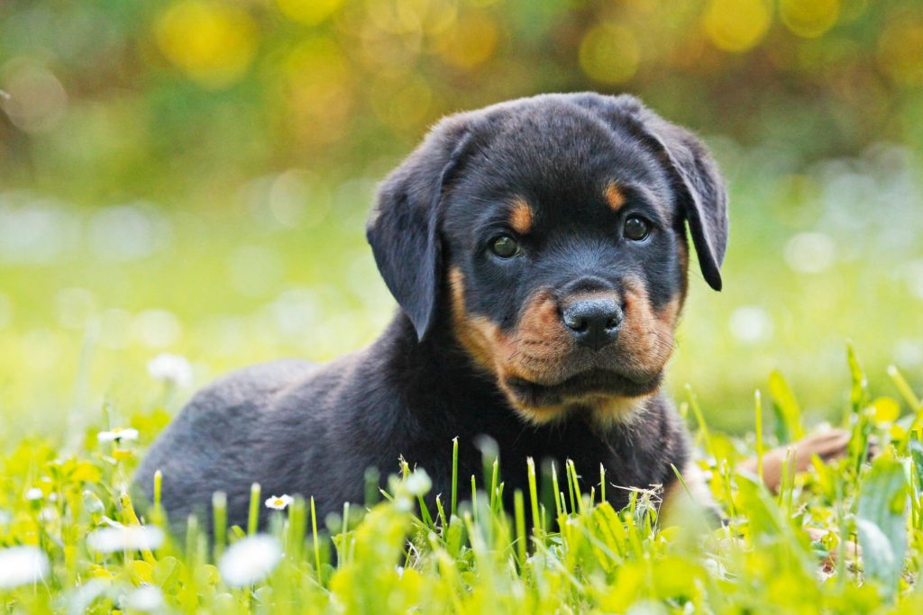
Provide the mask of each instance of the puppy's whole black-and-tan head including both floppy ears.
{"label": "puppy's whole black-and-tan head including both floppy ears", "polygon": [[699,140],[631,97],[569,94],[440,122],[367,236],[418,337],[450,326],[521,416],[611,421],[663,377],[686,224],[720,290],[725,190]]}

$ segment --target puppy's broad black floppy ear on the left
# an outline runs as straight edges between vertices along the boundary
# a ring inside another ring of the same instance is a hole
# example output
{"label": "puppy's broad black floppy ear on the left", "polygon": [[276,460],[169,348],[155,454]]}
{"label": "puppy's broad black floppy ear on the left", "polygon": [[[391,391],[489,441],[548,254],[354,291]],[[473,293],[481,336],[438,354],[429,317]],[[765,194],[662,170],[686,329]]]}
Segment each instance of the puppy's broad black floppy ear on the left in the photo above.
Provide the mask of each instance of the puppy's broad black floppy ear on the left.
{"label": "puppy's broad black floppy ear on the left", "polygon": [[433,324],[442,274],[440,203],[470,140],[465,116],[440,122],[378,186],[366,238],[381,277],[419,339]]}

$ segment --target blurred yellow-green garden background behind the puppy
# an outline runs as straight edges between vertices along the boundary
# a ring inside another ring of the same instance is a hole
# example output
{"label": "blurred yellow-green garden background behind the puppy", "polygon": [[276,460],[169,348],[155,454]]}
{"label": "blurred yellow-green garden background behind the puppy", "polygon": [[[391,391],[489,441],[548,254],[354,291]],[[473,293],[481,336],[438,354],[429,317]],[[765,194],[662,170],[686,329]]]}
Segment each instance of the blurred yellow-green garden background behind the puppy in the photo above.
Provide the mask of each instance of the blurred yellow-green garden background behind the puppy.
{"label": "blurred yellow-green garden background behind the puppy", "polygon": [[918,0],[6,0],[0,443],[161,403],[162,352],[199,385],[358,348],[393,309],[375,183],[446,113],[581,89],[697,130],[730,185],[677,395],[744,429],[779,369],[838,416],[846,338],[882,392],[923,382]]}

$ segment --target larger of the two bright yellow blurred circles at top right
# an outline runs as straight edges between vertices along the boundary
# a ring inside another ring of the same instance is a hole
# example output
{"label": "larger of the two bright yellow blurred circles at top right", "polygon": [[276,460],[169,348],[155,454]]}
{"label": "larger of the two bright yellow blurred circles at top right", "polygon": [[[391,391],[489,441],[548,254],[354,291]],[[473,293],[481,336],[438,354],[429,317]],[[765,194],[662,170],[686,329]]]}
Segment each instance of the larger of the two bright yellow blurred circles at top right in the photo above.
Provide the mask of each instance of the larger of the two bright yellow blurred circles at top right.
{"label": "larger of the two bright yellow blurred circles at top right", "polygon": [[710,0],[702,29],[718,49],[742,53],[762,40],[772,20],[772,7],[765,0]]}

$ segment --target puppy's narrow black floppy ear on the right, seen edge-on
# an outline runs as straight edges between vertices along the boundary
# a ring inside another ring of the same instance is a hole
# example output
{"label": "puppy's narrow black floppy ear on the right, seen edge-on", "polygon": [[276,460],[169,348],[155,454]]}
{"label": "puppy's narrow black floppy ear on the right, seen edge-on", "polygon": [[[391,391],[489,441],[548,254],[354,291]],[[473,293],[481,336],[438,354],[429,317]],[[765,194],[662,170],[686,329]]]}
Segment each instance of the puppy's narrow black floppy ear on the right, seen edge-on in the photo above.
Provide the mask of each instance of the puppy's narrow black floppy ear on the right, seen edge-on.
{"label": "puppy's narrow black floppy ear on the right, seen edge-on", "polygon": [[664,162],[677,191],[678,205],[689,222],[702,276],[714,290],[721,290],[721,264],[727,248],[727,194],[718,165],[699,138],[670,124],[632,96],[581,95],[579,102],[628,128]]}

